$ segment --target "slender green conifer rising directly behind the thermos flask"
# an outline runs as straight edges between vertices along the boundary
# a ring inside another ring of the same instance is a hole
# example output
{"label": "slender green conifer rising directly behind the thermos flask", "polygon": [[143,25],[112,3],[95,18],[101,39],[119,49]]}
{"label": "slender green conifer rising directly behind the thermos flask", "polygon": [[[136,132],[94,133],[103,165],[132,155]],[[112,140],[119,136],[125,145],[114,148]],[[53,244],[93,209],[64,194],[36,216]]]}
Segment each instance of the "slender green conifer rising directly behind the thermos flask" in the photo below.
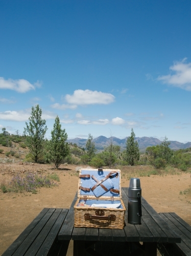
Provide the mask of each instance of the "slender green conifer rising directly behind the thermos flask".
{"label": "slender green conifer rising directly behind the thermos flask", "polygon": [[140,158],[140,152],[138,148],[138,142],[135,140],[135,134],[133,129],[131,129],[131,136],[127,138],[126,141],[126,158],[127,162],[133,166],[136,161]]}

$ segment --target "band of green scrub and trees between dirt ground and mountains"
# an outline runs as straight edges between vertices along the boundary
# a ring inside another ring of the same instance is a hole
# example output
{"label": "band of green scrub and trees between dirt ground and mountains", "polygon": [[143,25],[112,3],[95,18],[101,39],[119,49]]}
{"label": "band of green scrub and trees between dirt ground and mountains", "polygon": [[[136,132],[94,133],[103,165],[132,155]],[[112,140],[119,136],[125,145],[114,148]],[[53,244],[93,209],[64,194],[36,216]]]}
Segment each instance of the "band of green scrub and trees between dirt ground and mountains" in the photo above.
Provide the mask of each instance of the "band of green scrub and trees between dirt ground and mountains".
{"label": "band of green scrub and trees between dirt ground and mountains", "polygon": [[[46,121],[41,119],[39,105],[32,108],[29,124],[22,136],[10,135],[5,128],[0,133],[0,163],[31,162],[54,164],[56,169],[61,164],[89,165],[93,167],[118,168],[122,170],[122,178],[135,176],[180,174],[191,172],[191,148],[172,151],[170,142],[165,137],[160,145],[149,146],[140,154],[138,144],[134,141],[133,129],[126,142],[126,150],[114,145],[112,139],[102,152],[97,153],[91,134],[86,148],[67,143],[67,133],[61,128],[59,117],[55,119],[51,139],[44,138],[47,131]],[[56,175],[56,174],[55,174]],[[59,177],[38,176],[30,173],[14,176],[9,182],[1,181],[1,189],[7,191],[33,191],[37,187],[55,186],[53,180]],[[188,191],[188,193],[190,193]]]}

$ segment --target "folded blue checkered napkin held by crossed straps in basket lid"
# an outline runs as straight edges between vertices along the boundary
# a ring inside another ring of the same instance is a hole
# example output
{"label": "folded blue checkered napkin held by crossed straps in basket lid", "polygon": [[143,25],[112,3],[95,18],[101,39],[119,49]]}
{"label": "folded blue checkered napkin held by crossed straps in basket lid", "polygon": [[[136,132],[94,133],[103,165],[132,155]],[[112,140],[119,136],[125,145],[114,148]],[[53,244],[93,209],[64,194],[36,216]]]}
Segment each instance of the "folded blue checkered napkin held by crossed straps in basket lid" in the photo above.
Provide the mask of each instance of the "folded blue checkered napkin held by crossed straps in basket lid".
{"label": "folded blue checkered napkin held by crossed straps in basket lid", "polygon": [[[100,180],[104,179],[105,176],[101,175],[99,177],[97,176],[96,178],[100,181]],[[92,188],[96,184],[97,184],[97,182],[91,178],[90,188]],[[109,178],[107,180],[105,180],[104,182],[102,182],[102,184],[107,188],[107,190],[110,190],[111,188],[113,188],[113,183],[111,182],[111,180]],[[96,197],[100,197],[103,194],[105,194],[106,192],[107,191],[105,189],[103,189],[100,185],[98,185],[95,189],[93,189],[93,194]]]}

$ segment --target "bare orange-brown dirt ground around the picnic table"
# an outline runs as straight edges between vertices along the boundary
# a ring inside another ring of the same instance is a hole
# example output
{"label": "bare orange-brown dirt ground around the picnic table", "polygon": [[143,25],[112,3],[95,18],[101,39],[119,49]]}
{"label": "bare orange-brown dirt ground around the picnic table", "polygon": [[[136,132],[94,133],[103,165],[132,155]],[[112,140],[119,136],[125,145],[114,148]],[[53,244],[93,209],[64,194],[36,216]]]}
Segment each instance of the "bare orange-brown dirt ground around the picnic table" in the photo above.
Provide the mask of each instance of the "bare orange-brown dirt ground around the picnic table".
{"label": "bare orange-brown dirt ground around the picnic table", "polygon": [[[40,169],[41,168],[41,169]],[[58,171],[50,165],[18,165],[4,164],[0,179],[6,179],[17,170],[43,173],[55,172],[60,177],[58,186],[40,188],[37,194],[32,193],[3,193],[0,192],[0,254],[2,254],[19,234],[31,223],[44,207],[69,208],[77,192],[78,177],[75,176],[75,165],[61,166]],[[135,168],[135,167],[134,167]],[[14,172],[13,172],[14,169]],[[13,172],[13,173],[12,173]],[[4,175],[2,175],[4,173]],[[157,212],[176,212],[183,220],[191,225],[191,197],[180,194],[191,184],[190,173],[181,175],[139,177],[142,196]],[[128,187],[129,180],[122,179],[122,187]],[[72,255],[72,247],[67,255]]]}

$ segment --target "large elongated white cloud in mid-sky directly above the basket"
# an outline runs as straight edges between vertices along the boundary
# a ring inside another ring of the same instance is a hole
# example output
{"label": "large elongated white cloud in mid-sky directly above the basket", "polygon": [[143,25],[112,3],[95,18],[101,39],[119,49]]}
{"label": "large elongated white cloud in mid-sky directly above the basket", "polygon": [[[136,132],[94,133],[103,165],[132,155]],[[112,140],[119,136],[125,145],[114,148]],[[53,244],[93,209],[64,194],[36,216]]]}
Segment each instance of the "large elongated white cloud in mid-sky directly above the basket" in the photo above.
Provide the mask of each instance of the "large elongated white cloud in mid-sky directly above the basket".
{"label": "large elongated white cloud in mid-sky directly above the basket", "polygon": [[115,97],[110,93],[103,93],[90,90],[76,90],[73,95],[66,94],[65,100],[69,104],[88,105],[88,104],[110,104]]}

